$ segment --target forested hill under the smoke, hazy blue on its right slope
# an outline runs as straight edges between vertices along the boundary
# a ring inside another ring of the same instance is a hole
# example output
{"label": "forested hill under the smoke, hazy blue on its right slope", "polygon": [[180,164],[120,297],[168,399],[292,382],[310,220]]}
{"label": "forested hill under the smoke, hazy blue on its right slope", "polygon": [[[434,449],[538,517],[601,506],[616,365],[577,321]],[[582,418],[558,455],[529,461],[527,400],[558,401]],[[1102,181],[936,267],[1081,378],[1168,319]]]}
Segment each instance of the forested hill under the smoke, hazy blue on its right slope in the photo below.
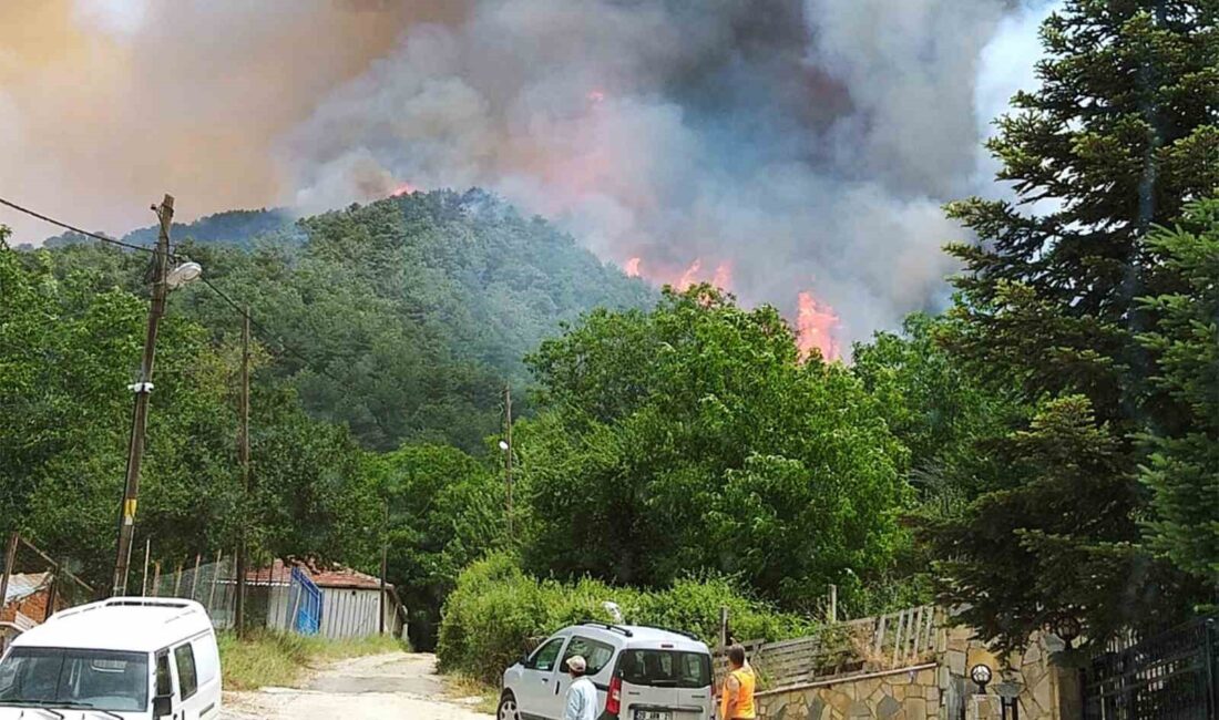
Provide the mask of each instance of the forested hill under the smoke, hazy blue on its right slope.
{"label": "forested hill under the smoke, hazy blue on its right slope", "polygon": [[[150,230],[128,235],[132,241]],[[65,272],[141,288],[139,255],[59,239]],[[210,216],[174,244],[240,302],[305,407],[347,424],[366,447],[403,441],[478,450],[496,432],[506,383],[524,387],[522,357],[594,307],[651,305],[640,280],[602,264],[540,218],[471,190],[417,192],[293,223],[279,211]],[[176,291],[171,313],[217,334],[236,313],[210,288]],[[519,407],[525,409],[524,392]]]}

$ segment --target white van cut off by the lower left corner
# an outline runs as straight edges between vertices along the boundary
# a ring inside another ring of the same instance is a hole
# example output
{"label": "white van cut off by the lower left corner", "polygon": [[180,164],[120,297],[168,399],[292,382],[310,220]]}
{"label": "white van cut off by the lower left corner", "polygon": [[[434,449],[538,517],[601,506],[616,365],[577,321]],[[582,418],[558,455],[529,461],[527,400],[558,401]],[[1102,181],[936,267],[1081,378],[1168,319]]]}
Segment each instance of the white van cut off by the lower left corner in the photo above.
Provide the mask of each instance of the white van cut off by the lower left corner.
{"label": "white van cut off by the lower left corner", "polygon": [[221,660],[207,612],[173,598],[63,610],[0,658],[0,720],[213,720]]}

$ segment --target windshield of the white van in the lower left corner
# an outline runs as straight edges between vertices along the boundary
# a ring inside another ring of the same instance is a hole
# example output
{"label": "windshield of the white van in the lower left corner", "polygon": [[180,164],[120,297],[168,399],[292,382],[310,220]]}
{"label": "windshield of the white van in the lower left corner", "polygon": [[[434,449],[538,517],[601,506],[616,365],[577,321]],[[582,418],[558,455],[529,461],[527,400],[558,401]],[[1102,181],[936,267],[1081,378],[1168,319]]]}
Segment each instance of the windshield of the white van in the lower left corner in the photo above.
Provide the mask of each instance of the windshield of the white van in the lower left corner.
{"label": "windshield of the white van in the lower left corner", "polygon": [[0,707],[145,711],[143,653],[16,647],[0,663]]}

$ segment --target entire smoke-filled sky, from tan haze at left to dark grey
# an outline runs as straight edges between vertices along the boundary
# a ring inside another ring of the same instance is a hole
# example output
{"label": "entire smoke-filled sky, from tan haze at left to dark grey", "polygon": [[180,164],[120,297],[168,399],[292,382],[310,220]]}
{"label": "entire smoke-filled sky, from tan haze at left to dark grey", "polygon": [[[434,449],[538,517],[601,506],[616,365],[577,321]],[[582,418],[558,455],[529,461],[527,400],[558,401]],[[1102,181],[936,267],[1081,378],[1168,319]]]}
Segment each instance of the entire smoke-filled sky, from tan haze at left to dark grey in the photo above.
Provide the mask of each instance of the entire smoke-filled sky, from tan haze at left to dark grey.
{"label": "entire smoke-filled sky, from tan haze at left to dark grey", "polygon": [[1035,29],[1013,0],[12,2],[0,189],[40,207],[479,185],[658,281],[807,292],[842,345],[942,298],[980,76]]}

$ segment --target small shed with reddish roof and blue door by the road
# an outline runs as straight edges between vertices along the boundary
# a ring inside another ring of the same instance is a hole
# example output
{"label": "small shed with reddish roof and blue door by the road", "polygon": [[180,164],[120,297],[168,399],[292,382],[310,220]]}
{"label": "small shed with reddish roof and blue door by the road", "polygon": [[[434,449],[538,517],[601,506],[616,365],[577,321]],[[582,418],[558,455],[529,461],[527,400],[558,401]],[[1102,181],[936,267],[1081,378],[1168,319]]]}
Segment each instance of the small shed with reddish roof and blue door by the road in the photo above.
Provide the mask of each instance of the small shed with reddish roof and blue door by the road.
{"label": "small shed with reddish roof and blue door by the road", "polygon": [[[296,570],[294,574],[293,570]],[[250,588],[266,597],[267,626],[301,631],[301,581],[321,595],[317,635],[332,640],[371,637],[380,634],[380,579],[343,565],[317,565],[305,560],[277,559],[271,566],[246,575]],[[385,584],[385,634],[406,637],[406,608],[391,584]]]}

